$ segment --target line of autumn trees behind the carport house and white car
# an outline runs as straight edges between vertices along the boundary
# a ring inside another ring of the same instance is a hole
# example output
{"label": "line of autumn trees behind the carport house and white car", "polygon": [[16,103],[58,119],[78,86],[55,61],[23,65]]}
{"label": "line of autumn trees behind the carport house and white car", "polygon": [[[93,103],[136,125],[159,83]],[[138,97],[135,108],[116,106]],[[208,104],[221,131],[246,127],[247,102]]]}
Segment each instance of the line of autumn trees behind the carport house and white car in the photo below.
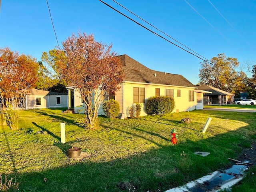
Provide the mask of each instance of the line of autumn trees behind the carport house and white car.
{"label": "line of autumn trees behind the carport house and white car", "polygon": [[247,61],[240,70],[238,68],[237,58],[218,54],[210,61],[200,63],[199,84],[233,93],[235,97],[247,91],[248,97],[256,98],[256,62]]}

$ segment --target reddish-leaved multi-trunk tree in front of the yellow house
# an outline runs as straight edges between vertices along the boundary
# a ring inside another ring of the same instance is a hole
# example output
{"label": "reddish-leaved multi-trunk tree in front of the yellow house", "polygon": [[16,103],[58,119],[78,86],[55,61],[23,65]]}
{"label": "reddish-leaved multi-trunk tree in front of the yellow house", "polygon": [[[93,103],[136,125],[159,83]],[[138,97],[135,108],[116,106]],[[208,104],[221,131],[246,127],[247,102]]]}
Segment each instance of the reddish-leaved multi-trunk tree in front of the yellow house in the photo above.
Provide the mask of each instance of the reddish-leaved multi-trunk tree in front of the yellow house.
{"label": "reddish-leaved multi-trunk tree in front of the yellow house", "polygon": [[120,58],[111,48],[112,45],[97,42],[92,34],[78,32],[62,42],[61,50],[56,50],[55,70],[80,92],[89,128],[94,127],[106,94],[114,94],[124,78]]}

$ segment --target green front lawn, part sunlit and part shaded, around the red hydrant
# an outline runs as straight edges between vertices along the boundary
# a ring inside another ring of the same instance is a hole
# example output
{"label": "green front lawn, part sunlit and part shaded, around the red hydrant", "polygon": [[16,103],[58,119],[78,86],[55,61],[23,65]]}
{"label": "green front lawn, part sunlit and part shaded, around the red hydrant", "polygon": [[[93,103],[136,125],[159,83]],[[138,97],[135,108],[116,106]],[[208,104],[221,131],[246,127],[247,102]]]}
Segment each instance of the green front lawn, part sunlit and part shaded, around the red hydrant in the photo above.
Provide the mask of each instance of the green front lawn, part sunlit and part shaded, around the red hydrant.
{"label": "green front lawn, part sunlit and part shaded, around the red hydrant", "polygon": [[[61,110],[22,111],[20,130],[0,128],[0,173],[16,178],[23,192],[164,191],[229,166],[228,158],[237,158],[256,135],[254,113],[194,110],[126,120],[99,117],[99,128],[92,130],[74,123],[82,117]],[[191,124],[180,123],[186,117]],[[208,117],[212,121],[202,134]],[[61,122],[65,144],[60,142]],[[171,142],[172,128],[177,145]],[[37,134],[41,130],[48,134]],[[66,149],[72,146],[88,156],[68,158]]]}

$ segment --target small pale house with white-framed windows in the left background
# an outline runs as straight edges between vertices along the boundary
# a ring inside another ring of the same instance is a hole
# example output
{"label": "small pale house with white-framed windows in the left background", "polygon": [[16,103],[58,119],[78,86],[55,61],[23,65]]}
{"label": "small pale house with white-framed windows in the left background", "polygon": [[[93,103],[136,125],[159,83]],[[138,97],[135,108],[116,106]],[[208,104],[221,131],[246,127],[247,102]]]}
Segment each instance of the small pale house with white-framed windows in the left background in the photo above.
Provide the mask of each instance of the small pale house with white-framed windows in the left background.
{"label": "small pale house with white-framed windows in the left background", "polygon": [[68,107],[68,95],[57,92],[30,89],[23,104],[24,109]]}

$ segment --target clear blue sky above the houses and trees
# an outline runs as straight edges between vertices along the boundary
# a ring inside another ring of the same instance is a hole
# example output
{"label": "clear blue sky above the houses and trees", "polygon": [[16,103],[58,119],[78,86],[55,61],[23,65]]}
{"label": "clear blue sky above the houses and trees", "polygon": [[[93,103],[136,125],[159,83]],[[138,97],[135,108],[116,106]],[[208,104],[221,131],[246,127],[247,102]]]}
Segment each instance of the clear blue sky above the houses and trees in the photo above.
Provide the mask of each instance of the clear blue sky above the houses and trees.
{"label": "clear blue sky above the houses and trees", "polygon": [[[103,1],[182,46],[114,1]],[[224,53],[238,58],[241,65],[248,60],[256,61],[255,0],[116,2],[209,60]],[[181,74],[193,84],[198,83],[202,60],[145,30],[99,0],[48,0],[48,4],[59,44],[72,32],[81,30],[94,34],[97,41],[112,43],[118,54],[127,54],[150,69]],[[0,47],[8,46],[41,60],[42,52],[56,45],[46,0],[1,1]]]}

